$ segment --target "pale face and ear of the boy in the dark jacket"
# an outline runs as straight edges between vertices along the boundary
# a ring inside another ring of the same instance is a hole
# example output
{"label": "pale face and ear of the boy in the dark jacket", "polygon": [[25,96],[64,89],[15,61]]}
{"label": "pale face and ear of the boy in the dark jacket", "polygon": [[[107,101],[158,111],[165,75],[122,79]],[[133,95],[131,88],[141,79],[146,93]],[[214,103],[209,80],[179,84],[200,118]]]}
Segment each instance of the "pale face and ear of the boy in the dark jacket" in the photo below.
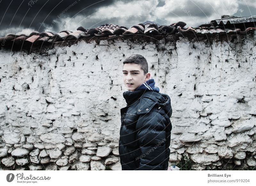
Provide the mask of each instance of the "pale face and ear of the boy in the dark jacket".
{"label": "pale face and ear of the boy in the dark jacket", "polygon": [[[123,66],[123,80],[125,87],[133,91],[144,82],[148,81],[150,78],[150,73],[143,74],[140,65],[134,63],[126,63]],[[132,84],[129,84],[132,83]]]}

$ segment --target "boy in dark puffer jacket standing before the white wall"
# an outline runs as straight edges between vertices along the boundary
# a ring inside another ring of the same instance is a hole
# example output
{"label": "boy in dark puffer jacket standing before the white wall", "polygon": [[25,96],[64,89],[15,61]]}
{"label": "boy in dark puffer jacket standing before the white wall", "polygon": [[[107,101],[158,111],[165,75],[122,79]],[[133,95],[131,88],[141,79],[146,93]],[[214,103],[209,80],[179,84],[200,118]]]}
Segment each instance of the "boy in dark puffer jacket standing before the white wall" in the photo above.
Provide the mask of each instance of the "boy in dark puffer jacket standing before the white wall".
{"label": "boy in dark puffer jacket standing before the white wall", "polygon": [[119,156],[122,170],[167,170],[172,124],[171,99],[159,92],[147,60],[132,55],[123,62],[128,91],[121,109]]}

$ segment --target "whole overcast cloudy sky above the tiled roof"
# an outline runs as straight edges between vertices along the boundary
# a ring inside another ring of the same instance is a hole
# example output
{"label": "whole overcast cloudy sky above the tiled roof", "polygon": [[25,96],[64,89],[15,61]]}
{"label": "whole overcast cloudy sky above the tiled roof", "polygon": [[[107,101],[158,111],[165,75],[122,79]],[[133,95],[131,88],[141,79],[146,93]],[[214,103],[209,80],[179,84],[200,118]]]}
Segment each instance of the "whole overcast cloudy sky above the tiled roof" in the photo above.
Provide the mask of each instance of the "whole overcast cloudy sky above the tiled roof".
{"label": "whole overcast cloudy sky above the tiled roof", "polygon": [[221,15],[254,16],[255,0],[0,0],[0,36],[76,31],[102,24],[131,27],[146,20],[160,25],[184,21],[197,27]]}

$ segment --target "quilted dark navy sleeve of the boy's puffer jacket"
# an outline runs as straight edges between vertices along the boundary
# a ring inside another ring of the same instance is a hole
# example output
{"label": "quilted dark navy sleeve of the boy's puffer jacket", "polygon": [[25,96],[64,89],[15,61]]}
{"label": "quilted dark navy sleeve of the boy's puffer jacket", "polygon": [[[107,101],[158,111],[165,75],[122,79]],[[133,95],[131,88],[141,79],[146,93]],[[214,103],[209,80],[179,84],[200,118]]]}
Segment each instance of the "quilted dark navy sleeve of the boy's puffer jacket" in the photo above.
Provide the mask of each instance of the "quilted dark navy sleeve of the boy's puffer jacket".
{"label": "quilted dark navy sleeve of the boy's puffer jacket", "polygon": [[136,139],[140,148],[138,170],[162,170],[165,157],[165,118],[158,112],[140,114]]}

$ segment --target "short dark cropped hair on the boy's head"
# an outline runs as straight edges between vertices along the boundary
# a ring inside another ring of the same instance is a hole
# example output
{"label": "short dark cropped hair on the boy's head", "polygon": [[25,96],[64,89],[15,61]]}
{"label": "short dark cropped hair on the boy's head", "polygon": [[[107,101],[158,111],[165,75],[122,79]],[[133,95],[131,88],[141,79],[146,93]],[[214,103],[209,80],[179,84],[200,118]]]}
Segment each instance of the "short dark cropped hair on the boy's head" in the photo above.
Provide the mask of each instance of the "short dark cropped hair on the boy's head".
{"label": "short dark cropped hair on the boy's head", "polygon": [[148,62],[143,56],[139,54],[133,54],[132,56],[125,58],[123,64],[126,63],[134,63],[140,65],[140,68],[141,70],[143,70],[144,75],[148,73]]}

